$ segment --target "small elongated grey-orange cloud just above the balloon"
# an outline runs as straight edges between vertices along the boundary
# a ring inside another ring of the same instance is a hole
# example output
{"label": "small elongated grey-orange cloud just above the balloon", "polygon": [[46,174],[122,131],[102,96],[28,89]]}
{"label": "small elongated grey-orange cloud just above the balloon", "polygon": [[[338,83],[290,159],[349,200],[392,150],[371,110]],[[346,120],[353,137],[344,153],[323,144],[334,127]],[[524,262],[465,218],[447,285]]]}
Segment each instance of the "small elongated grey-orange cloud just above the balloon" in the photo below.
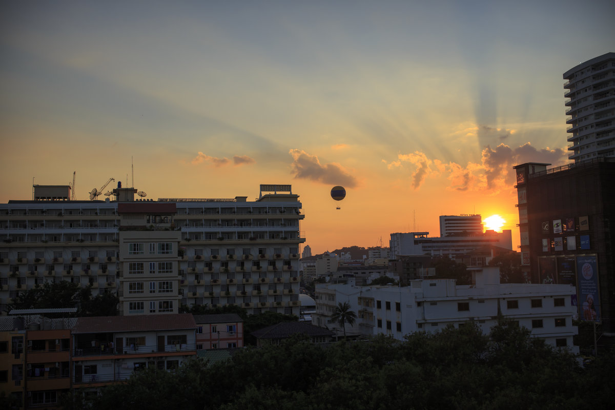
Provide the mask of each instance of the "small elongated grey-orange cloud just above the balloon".
{"label": "small elongated grey-orange cloud just above the balloon", "polygon": [[357,186],[357,178],[339,164],[320,164],[317,156],[312,156],[303,149],[291,149],[293,157],[291,173],[296,179],[309,179],[323,184],[343,185],[347,188]]}

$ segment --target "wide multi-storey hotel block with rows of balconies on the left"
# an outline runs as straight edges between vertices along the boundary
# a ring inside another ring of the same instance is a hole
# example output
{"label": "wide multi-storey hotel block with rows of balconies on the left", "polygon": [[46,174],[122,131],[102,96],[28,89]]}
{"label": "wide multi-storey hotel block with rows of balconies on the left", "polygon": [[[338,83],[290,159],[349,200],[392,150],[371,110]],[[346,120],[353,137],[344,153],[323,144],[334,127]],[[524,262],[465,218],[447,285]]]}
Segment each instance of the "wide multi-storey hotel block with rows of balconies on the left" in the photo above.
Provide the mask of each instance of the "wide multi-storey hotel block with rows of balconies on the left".
{"label": "wide multi-storey hotel block with rows of balconies on the left", "polygon": [[20,291],[68,280],[117,292],[121,314],[231,304],[299,315],[304,215],[290,185],[261,185],[254,201],[134,200],[121,187],[121,200],[74,201],[54,188],[0,204],[2,312]]}

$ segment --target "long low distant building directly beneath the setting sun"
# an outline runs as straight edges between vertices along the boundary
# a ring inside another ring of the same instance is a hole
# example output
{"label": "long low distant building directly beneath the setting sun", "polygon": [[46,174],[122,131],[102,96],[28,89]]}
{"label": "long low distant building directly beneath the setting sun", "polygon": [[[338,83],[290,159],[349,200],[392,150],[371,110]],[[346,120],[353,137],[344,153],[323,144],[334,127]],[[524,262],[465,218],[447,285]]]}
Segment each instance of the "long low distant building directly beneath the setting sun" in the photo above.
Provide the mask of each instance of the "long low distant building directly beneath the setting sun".
{"label": "long low distant building directly beneath the setting sun", "polygon": [[429,232],[407,232],[391,234],[391,258],[400,255],[444,256],[470,251],[486,245],[512,250],[512,231],[501,233],[487,231],[469,236],[429,237]]}

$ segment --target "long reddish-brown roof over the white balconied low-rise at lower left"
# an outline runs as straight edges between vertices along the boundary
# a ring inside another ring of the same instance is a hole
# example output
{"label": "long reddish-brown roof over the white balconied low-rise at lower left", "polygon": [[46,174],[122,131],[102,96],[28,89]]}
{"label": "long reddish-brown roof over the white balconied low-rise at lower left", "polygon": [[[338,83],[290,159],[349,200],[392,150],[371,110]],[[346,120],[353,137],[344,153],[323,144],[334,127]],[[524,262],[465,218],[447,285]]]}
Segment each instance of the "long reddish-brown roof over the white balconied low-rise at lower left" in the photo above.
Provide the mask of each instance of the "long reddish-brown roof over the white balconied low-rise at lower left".
{"label": "long reddish-brown roof over the white balconied low-rise at lower left", "polygon": [[73,333],[111,333],[195,328],[196,322],[190,313],[101,316],[78,318]]}

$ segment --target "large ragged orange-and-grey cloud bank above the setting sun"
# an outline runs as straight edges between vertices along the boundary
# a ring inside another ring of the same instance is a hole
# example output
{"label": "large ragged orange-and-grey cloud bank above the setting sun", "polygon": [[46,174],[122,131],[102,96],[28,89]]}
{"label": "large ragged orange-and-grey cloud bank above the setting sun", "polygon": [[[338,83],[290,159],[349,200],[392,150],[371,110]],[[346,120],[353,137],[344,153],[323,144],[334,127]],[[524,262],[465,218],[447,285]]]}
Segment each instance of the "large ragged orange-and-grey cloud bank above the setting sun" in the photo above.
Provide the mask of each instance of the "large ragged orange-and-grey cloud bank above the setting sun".
{"label": "large ragged orange-and-grey cloud bank above the setting sun", "polygon": [[[508,132],[508,135],[512,132]],[[445,175],[449,181],[448,189],[454,191],[482,191],[497,194],[510,189],[515,184],[512,167],[525,162],[542,162],[554,167],[565,164],[568,159],[565,149],[536,149],[530,143],[510,148],[504,143],[495,148],[486,146],[481,152],[480,163],[468,162],[460,165],[455,162],[445,164],[437,159],[429,159],[423,152],[398,154],[397,160],[383,160],[389,170],[401,169],[404,164],[413,165],[410,175],[411,186],[419,189],[426,178]]]}

